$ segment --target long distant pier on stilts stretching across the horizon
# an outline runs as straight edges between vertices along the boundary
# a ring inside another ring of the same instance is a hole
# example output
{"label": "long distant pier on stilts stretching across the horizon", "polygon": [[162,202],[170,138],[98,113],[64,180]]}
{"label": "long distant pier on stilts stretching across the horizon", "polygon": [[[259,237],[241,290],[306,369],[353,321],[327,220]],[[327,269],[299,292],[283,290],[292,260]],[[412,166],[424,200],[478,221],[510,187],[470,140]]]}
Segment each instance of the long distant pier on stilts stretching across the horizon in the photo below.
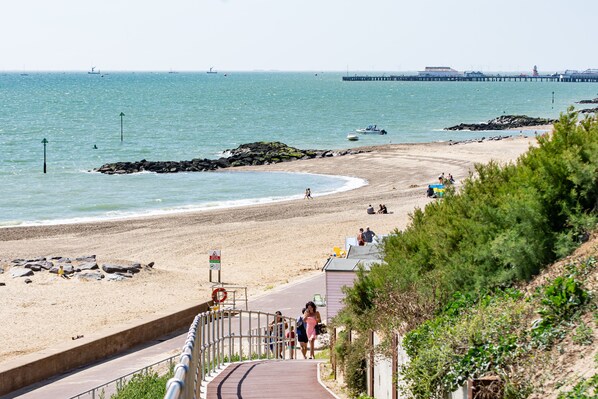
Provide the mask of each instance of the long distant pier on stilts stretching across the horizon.
{"label": "long distant pier on stilts stretching across the horizon", "polygon": [[420,76],[420,75],[354,75],[343,76],[344,82],[396,81],[396,82],[567,82],[598,83],[598,76],[568,75],[483,75],[483,76]]}

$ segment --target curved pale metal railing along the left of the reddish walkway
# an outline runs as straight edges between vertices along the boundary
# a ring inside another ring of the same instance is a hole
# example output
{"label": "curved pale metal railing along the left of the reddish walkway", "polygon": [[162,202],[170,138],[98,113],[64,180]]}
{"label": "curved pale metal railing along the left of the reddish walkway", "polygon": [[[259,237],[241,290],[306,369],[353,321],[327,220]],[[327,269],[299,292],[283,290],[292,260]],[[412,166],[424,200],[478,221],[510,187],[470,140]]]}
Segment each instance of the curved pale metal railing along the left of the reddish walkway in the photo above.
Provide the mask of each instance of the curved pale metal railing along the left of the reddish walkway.
{"label": "curved pale metal railing along the left of the reddish walkway", "polygon": [[295,358],[294,318],[246,310],[218,310],[195,317],[164,399],[205,397],[203,383],[223,366],[244,360]]}

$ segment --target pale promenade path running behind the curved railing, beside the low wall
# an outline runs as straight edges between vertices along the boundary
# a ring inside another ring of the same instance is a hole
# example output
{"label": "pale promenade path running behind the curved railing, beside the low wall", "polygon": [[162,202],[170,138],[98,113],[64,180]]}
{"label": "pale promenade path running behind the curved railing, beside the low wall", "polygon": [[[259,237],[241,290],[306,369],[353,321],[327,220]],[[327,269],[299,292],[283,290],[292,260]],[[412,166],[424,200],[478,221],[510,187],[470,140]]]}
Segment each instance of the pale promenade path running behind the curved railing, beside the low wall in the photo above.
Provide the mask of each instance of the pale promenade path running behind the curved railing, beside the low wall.
{"label": "pale promenade path running behind the curved railing, beside the low wall", "polygon": [[[314,294],[325,295],[325,288],[324,273],[318,273],[251,298],[248,307],[250,310],[271,313],[280,310],[283,315],[294,317],[300,314],[305,303],[311,300]],[[322,319],[325,320],[326,308],[319,308],[318,310],[322,315]],[[82,367],[22,388],[0,399],[72,398],[125,374],[180,353],[186,337],[187,331],[181,331],[175,336],[149,342],[100,363]],[[81,396],[81,398],[91,398],[91,395]]]}

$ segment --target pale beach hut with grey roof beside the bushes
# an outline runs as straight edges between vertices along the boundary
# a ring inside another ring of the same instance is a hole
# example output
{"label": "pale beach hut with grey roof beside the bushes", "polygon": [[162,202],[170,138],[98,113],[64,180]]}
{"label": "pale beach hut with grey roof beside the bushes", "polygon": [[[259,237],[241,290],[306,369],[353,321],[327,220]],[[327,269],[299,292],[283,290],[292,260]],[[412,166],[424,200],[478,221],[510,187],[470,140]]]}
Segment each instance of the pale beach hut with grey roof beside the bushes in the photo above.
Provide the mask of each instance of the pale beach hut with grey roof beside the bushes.
{"label": "pale beach hut with grey roof beside the bushes", "polygon": [[353,287],[356,271],[361,265],[366,271],[382,260],[382,247],[377,244],[349,246],[346,258],[328,258],[323,267],[326,275],[326,322],[328,323],[344,306],[342,287]]}

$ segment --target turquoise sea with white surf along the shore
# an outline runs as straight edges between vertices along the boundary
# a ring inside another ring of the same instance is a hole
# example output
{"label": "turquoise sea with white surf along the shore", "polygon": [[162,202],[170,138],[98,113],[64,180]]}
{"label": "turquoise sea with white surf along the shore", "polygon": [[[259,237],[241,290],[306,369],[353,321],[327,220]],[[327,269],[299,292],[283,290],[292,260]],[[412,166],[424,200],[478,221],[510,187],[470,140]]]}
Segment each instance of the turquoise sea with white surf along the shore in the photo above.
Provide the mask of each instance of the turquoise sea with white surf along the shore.
{"label": "turquoise sea with white surf along the shore", "polygon": [[[344,149],[518,134],[443,128],[503,114],[556,118],[598,96],[595,83],[343,82],[343,75],[0,72],[0,227],[269,203],[302,198],[307,187],[317,198],[367,184],[307,173],[93,172],[108,162],[218,158],[255,141]],[[347,141],[370,124],[388,134]]]}

